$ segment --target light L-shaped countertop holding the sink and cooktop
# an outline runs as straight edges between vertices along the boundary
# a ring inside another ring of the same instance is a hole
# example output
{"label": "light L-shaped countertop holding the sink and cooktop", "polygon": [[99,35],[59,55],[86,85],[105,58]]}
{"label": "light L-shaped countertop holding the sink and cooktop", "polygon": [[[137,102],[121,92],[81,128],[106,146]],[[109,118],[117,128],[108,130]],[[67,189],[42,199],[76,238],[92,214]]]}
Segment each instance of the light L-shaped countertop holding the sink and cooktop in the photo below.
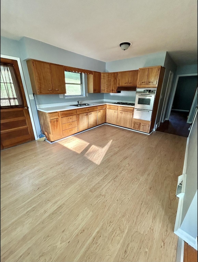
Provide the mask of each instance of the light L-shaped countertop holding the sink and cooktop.
{"label": "light L-shaped countertop holding the sink and cooktop", "polygon": [[[84,101],[82,101],[83,103]],[[71,104],[73,104],[75,102],[71,102]],[[82,104],[80,103],[80,104]],[[42,107],[42,108],[38,108],[39,111],[45,112],[45,113],[51,113],[51,112],[57,112],[57,111],[64,111],[64,110],[72,110],[72,109],[77,109],[77,108],[85,108],[85,107],[92,107],[92,106],[99,106],[99,105],[104,105],[104,104],[114,104],[115,102],[113,101],[97,101],[97,102],[86,102],[88,104],[91,104],[90,106],[83,106],[83,107],[75,107],[75,106],[71,106],[71,105],[62,105],[62,106],[50,106],[50,107]],[[133,103],[133,102],[131,102]],[[77,103],[76,103],[77,104]],[[134,107],[134,106],[130,106],[130,105],[118,105],[118,104],[114,104],[116,106],[124,106],[124,107]]]}

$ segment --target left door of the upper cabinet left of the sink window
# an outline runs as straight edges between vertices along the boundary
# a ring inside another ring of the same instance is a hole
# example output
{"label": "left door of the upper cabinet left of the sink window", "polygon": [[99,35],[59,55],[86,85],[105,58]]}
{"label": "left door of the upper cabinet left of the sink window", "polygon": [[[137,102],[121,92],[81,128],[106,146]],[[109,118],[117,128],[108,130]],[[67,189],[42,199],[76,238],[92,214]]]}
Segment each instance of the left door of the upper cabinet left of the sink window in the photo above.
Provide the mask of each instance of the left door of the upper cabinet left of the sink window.
{"label": "left door of the upper cabinet left of the sink window", "polygon": [[39,94],[53,93],[50,64],[40,61],[33,61],[33,66]]}

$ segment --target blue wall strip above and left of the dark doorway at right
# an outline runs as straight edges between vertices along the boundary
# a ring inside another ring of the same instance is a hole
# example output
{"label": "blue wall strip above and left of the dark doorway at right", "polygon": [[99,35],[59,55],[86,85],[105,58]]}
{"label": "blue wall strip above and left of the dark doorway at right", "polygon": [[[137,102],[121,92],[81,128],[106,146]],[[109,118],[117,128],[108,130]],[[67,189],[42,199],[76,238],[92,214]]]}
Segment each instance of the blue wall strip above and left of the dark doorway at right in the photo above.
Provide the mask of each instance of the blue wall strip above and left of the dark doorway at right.
{"label": "blue wall strip above and left of the dark doorway at right", "polygon": [[166,118],[168,116],[170,103],[171,103],[171,99],[172,99],[172,96],[173,96],[175,82],[176,82],[177,76],[180,75],[180,74],[197,74],[197,64],[187,65],[187,66],[178,66],[177,67],[177,71],[175,73],[175,77],[174,77],[174,81],[173,81],[173,86],[170,90],[170,94],[169,94],[169,98],[168,98],[169,102],[167,104],[167,108],[166,108],[166,112],[165,112]]}

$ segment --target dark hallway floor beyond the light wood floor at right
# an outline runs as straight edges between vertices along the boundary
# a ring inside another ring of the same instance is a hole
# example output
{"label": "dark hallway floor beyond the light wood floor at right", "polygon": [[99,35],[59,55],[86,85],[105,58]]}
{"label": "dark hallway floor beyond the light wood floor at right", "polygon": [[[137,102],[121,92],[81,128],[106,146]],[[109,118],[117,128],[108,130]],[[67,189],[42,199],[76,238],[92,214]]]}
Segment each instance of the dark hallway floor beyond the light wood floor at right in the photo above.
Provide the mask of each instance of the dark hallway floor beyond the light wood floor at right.
{"label": "dark hallway floor beyond the light wood floor at right", "polygon": [[161,123],[156,131],[178,135],[181,137],[188,137],[191,124],[187,121],[188,112],[171,111],[169,120]]}

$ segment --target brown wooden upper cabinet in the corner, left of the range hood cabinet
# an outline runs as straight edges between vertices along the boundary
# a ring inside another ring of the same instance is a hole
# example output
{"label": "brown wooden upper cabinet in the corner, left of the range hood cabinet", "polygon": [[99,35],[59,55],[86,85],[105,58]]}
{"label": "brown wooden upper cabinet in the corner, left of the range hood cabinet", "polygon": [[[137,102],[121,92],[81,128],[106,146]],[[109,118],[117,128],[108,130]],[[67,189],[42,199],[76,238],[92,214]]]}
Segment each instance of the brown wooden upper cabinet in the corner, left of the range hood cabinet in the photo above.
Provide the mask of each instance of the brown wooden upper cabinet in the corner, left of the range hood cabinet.
{"label": "brown wooden upper cabinet in the corner, left of the range hood cabinet", "polygon": [[117,92],[117,73],[101,73],[101,93]]}

